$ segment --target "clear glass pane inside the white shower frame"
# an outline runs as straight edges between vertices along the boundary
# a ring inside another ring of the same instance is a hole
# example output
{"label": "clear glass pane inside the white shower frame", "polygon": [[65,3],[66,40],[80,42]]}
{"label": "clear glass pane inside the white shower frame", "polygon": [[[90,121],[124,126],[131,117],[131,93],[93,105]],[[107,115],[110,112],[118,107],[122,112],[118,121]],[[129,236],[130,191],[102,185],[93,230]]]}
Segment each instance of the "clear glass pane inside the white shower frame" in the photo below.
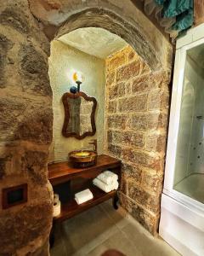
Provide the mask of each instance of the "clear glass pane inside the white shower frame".
{"label": "clear glass pane inside the white shower frame", "polygon": [[204,203],[204,44],[186,50],[173,189]]}

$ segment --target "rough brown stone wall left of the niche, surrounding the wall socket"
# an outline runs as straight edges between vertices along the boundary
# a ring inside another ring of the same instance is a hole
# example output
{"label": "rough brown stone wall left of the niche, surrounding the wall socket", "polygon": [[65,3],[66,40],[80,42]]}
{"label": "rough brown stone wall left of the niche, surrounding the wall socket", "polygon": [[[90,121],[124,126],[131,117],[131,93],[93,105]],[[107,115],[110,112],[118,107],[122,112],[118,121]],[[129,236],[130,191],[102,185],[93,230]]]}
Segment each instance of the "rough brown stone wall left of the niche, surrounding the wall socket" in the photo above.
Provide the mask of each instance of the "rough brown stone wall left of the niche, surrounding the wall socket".
{"label": "rough brown stone wall left of the niche, surrounding the wall socket", "polygon": [[[0,5],[0,255],[48,255],[52,90],[48,39],[26,1]],[[28,201],[2,208],[2,189],[28,185]],[[31,254],[30,254],[31,253]]]}

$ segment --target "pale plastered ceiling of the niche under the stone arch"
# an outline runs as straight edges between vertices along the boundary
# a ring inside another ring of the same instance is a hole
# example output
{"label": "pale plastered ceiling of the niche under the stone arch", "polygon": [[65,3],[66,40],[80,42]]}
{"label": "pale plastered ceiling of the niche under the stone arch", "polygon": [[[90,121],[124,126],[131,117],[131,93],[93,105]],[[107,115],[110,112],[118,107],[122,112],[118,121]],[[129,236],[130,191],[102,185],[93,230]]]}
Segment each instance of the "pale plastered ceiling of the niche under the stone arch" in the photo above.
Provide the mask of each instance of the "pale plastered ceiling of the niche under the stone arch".
{"label": "pale plastered ceiling of the niche under the stone arch", "polygon": [[98,27],[79,28],[58,40],[101,59],[105,59],[127,45],[122,38]]}

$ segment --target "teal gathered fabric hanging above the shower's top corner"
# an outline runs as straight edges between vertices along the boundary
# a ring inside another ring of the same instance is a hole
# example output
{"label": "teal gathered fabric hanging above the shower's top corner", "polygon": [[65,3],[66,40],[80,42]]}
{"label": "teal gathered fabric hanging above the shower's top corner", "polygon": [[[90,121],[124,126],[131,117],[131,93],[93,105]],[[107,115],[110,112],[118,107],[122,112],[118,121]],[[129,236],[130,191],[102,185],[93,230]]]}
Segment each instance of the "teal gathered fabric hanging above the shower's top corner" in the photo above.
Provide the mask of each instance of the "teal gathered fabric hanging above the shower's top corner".
{"label": "teal gathered fabric hanging above the shower's top corner", "polygon": [[193,25],[193,0],[155,0],[162,5],[162,17],[176,17],[172,29],[182,32]]}

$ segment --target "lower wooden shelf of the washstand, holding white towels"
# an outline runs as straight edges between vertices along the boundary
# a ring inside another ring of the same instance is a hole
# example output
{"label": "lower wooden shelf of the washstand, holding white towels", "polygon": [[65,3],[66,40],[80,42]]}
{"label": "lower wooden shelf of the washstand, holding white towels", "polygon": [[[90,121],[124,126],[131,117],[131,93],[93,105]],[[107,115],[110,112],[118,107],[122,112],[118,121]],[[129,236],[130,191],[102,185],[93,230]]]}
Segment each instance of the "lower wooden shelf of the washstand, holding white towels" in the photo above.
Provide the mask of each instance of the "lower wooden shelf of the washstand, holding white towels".
{"label": "lower wooden shelf of the washstand, holding white towels", "polygon": [[59,216],[54,218],[54,221],[63,221],[66,218],[71,218],[77,215],[80,212],[87,210],[90,207],[94,207],[103,201],[107,201],[110,198],[114,197],[117,193],[116,190],[113,190],[109,193],[105,193],[101,189],[98,189],[95,186],[88,188],[92,191],[94,198],[89,200],[81,205],[78,205],[77,202],[73,199],[71,201],[61,204],[61,212]]}

